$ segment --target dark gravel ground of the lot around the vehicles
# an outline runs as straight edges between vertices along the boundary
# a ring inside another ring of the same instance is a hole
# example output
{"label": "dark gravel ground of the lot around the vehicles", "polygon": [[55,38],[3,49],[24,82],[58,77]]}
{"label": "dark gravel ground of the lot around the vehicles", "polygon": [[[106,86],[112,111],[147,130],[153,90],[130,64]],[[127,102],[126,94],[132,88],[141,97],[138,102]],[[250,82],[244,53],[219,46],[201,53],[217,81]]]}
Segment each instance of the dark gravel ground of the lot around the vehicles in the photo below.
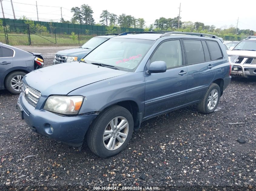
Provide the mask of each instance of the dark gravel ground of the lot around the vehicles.
{"label": "dark gravel ground of the lot around the vehicles", "polygon": [[[49,65],[72,47],[19,48],[43,53]],[[255,82],[232,78],[212,114],[190,106],[145,121],[127,148],[107,159],[32,132],[19,119],[18,95],[0,91],[0,190],[256,190]],[[228,124],[237,122],[244,124]]]}

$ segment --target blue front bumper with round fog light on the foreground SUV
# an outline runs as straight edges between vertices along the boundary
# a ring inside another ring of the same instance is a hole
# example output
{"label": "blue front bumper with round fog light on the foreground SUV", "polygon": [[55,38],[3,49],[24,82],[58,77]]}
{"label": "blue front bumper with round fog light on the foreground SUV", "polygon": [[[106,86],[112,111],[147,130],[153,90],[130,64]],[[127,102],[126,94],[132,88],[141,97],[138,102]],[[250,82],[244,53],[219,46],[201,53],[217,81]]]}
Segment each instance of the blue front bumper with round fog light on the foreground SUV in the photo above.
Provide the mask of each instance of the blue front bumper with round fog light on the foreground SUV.
{"label": "blue front bumper with round fog light on the foreground SUV", "polygon": [[[47,97],[40,97],[36,107],[30,105],[25,97],[20,94],[18,104],[23,110],[23,118],[32,131],[64,142],[68,145],[79,147],[82,145],[85,133],[97,114],[84,116],[59,116],[42,109]],[[43,104],[42,104],[43,103]],[[51,126],[53,131],[51,130]]]}

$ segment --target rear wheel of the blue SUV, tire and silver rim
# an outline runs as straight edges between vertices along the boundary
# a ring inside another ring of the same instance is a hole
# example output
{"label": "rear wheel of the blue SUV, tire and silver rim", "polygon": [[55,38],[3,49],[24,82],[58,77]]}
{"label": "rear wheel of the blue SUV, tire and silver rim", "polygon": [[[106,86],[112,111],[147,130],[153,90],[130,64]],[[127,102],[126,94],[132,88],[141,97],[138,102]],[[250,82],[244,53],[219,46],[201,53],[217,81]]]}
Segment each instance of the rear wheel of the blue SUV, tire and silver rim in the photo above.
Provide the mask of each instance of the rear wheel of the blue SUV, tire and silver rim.
{"label": "rear wheel of the blue SUV, tire and silver rim", "polygon": [[197,104],[201,113],[212,113],[219,104],[221,90],[218,84],[212,83],[206,91],[204,98]]}

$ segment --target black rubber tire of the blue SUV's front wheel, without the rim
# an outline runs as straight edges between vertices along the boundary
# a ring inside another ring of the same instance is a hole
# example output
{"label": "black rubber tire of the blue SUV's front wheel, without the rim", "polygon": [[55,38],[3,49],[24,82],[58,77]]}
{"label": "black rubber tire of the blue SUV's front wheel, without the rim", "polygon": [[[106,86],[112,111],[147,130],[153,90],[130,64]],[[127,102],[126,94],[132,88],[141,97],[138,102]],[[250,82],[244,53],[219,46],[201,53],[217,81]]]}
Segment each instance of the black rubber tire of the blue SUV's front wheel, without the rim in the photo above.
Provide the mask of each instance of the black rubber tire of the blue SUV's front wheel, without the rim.
{"label": "black rubber tire of the blue SUV's front wheel, without the rim", "polygon": [[[128,122],[128,135],[125,141],[115,150],[108,150],[103,143],[103,136],[108,123],[115,117],[124,117]],[[133,117],[124,107],[114,105],[102,111],[90,125],[86,133],[86,141],[92,152],[100,157],[108,158],[121,152],[131,139],[133,132]]]}

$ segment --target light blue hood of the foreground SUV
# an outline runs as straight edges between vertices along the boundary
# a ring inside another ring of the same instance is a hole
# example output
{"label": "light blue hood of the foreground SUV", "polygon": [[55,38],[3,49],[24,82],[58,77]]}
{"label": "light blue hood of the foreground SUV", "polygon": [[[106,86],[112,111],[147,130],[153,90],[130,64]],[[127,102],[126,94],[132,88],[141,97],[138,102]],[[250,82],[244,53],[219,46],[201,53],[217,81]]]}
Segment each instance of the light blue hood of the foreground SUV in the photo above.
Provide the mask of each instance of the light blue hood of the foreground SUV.
{"label": "light blue hood of the foreground SUV", "polygon": [[126,73],[121,70],[76,61],[34,70],[25,75],[22,81],[40,91],[43,96],[67,95],[82,86]]}

